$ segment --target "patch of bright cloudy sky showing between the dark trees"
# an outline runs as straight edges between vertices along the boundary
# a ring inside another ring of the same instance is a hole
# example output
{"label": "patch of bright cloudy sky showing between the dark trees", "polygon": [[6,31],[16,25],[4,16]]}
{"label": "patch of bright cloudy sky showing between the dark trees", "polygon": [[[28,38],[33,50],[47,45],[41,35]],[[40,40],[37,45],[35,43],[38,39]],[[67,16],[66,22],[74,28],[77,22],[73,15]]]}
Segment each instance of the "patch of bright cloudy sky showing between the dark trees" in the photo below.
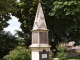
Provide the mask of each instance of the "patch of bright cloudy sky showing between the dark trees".
{"label": "patch of bright cloudy sky showing between the dark trees", "polygon": [[19,30],[20,29],[20,23],[18,22],[18,18],[16,18],[15,16],[11,16],[11,20],[8,21],[8,23],[10,24],[7,28],[4,28],[5,31],[10,31],[13,35],[15,34],[15,30]]}

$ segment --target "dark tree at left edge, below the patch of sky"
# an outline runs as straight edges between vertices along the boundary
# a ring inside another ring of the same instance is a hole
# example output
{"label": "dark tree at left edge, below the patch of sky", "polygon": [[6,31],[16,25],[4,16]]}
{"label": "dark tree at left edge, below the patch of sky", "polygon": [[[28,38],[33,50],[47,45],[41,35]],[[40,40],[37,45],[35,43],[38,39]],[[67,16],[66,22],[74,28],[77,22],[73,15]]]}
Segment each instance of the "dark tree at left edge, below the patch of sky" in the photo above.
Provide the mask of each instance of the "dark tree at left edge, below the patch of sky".
{"label": "dark tree at left edge, below the patch of sky", "polygon": [[18,45],[16,37],[10,32],[0,32],[0,58],[9,53]]}

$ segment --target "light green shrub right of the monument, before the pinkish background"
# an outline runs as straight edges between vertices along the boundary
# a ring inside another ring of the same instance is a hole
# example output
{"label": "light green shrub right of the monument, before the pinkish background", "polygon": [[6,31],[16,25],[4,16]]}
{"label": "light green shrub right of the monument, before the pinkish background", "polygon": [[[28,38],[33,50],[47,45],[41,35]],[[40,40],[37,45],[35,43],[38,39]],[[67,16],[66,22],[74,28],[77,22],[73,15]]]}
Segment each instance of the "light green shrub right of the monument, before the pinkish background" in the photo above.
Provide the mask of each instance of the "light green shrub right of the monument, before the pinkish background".
{"label": "light green shrub right of the monument, before the pinkish background", "polygon": [[58,45],[57,50],[57,58],[59,58],[60,60],[67,60],[66,47]]}

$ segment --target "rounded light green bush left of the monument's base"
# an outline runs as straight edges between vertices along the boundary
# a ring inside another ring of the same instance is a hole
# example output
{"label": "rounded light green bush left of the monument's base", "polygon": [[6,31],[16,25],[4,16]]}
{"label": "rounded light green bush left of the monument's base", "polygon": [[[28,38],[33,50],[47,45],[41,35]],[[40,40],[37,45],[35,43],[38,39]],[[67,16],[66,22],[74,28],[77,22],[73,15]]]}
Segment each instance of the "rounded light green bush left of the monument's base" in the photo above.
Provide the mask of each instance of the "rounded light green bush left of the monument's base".
{"label": "rounded light green bush left of the monument's base", "polygon": [[10,51],[9,55],[4,56],[5,60],[31,60],[30,50],[25,47],[18,46]]}

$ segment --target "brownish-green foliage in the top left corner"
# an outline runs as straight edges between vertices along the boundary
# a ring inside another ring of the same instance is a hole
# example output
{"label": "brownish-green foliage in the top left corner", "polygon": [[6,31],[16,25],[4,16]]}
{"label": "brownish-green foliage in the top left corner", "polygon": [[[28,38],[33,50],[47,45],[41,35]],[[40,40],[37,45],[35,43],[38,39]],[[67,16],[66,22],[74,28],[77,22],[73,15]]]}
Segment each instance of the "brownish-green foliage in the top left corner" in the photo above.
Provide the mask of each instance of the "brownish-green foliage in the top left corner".
{"label": "brownish-green foliage in the top left corner", "polygon": [[16,0],[0,0],[0,14],[16,13]]}

